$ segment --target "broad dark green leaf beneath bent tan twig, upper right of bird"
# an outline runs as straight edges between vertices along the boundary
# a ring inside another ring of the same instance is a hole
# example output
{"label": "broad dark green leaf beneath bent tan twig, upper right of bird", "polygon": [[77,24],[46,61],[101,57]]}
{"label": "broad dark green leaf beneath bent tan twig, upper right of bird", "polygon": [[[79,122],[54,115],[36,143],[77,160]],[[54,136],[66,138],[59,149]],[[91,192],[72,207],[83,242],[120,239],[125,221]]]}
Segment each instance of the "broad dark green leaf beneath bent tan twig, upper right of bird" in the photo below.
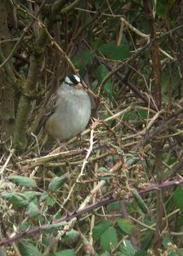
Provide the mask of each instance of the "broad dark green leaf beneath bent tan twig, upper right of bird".
{"label": "broad dark green leaf beneath bent tan twig, upper right of bird", "polygon": [[119,46],[112,43],[102,44],[99,50],[107,59],[113,61],[123,61],[124,59],[129,58],[128,44],[121,44]]}

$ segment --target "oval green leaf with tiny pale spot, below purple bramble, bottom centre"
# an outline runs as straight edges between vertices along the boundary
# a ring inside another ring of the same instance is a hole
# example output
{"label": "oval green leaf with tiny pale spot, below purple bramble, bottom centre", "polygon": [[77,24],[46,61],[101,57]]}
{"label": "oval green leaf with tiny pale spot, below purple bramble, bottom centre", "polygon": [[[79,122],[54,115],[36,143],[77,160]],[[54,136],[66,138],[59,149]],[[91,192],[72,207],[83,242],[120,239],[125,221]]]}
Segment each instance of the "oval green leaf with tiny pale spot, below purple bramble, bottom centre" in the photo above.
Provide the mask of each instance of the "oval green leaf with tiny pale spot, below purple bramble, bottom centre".
{"label": "oval green leaf with tiny pale spot, below purple bramble, bottom centre", "polygon": [[100,247],[107,252],[111,252],[117,246],[117,230],[108,228],[100,237]]}

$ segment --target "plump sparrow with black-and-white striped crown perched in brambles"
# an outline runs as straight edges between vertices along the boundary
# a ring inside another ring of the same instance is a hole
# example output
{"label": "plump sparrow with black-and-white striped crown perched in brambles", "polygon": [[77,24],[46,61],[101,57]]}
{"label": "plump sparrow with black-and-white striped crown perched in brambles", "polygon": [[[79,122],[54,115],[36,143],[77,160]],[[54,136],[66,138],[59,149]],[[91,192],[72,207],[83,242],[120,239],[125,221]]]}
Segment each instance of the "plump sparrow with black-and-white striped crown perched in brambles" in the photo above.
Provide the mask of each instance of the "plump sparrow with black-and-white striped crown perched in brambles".
{"label": "plump sparrow with black-and-white striped crown perched in brambles", "polygon": [[83,90],[82,79],[71,74],[48,103],[45,129],[49,136],[66,142],[84,130],[90,114],[91,102],[88,93]]}

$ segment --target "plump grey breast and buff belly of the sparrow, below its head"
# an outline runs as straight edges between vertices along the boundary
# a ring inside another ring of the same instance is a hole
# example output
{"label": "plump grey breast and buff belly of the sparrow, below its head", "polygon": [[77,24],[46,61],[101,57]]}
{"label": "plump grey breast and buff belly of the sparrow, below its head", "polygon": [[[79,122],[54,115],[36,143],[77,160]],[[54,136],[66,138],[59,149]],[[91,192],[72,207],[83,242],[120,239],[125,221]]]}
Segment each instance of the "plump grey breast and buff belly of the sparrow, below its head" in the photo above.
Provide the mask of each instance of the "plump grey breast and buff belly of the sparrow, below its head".
{"label": "plump grey breast and buff belly of the sparrow, below its head", "polygon": [[[75,91],[76,92],[76,91]],[[54,114],[47,122],[47,131],[52,137],[65,142],[84,130],[89,123],[91,102],[84,90],[77,93],[60,93]]]}

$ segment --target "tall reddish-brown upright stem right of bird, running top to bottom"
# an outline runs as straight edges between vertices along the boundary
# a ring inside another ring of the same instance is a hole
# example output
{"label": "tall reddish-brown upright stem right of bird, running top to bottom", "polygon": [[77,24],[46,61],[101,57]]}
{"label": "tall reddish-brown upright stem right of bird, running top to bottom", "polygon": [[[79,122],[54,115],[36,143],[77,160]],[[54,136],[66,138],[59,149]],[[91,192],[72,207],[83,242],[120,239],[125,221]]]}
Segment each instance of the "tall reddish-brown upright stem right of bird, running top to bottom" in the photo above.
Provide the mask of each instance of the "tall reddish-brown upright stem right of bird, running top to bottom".
{"label": "tall reddish-brown upright stem right of bird, running top to bottom", "polygon": [[[143,0],[144,8],[146,10],[147,19],[149,20],[149,28],[152,42],[152,70],[154,76],[154,95],[157,108],[160,110],[162,106],[162,91],[161,91],[161,62],[159,55],[159,47],[157,42],[157,32],[155,26],[155,17],[152,12],[152,5],[149,0]],[[157,183],[163,182],[163,165],[162,165],[163,143],[156,143],[155,155],[156,164],[155,172],[157,175]],[[163,230],[163,194],[162,191],[157,191],[157,226],[155,232],[155,251],[159,254],[159,248],[162,247],[162,233]]]}

